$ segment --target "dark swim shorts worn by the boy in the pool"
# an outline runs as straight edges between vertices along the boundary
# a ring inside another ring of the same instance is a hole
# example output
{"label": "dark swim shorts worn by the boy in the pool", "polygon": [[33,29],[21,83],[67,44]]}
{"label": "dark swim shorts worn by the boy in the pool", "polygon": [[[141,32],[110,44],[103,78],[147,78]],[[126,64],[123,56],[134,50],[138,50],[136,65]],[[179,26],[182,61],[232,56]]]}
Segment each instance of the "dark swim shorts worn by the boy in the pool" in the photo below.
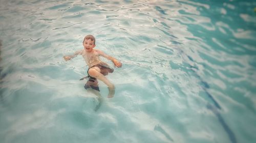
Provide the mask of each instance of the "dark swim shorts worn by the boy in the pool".
{"label": "dark swim shorts worn by the boy in the pool", "polygon": [[[108,64],[103,63],[103,62],[101,62],[97,65],[94,65],[92,67],[98,67],[100,69],[100,73],[103,75],[108,75],[109,73],[114,72],[114,69],[112,69]],[[90,68],[92,68],[92,67],[90,67]],[[88,71],[89,71],[89,69],[88,69]],[[87,90],[88,88],[92,88],[96,91],[99,91],[98,80],[96,78],[90,76],[88,71],[87,71],[87,74],[88,74],[89,79],[86,82],[86,84],[84,84],[84,89]]]}

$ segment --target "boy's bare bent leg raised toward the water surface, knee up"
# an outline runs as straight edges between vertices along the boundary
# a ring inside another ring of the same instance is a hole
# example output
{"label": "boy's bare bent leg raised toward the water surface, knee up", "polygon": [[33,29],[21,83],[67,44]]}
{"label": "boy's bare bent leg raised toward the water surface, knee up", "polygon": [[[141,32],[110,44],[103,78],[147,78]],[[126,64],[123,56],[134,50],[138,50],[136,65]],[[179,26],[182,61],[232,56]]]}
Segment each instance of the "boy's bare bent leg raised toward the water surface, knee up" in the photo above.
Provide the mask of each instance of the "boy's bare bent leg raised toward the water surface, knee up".
{"label": "boy's bare bent leg raised toward the water surface, knee up", "polygon": [[108,97],[113,97],[115,94],[115,86],[112,84],[108,78],[106,78],[103,74],[100,73],[100,69],[98,67],[90,68],[88,71],[89,75],[95,77],[101,81],[103,81],[109,87],[109,95]]}

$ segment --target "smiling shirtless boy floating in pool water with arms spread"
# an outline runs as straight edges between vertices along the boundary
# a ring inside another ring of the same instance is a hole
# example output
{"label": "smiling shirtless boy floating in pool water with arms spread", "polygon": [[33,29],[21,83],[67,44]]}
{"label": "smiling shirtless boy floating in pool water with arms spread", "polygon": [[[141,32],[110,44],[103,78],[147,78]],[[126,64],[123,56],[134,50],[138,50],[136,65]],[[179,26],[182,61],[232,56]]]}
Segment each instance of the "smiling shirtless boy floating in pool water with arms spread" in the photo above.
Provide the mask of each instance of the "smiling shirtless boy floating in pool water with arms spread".
{"label": "smiling shirtless boy floating in pool water with arms spread", "polygon": [[118,68],[122,67],[122,63],[117,61],[112,56],[109,56],[102,52],[101,50],[94,49],[95,45],[95,38],[92,35],[87,35],[83,39],[83,49],[76,51],[73,55],[65,55],[63,58],[68,61],[74,58],[76,55],[81,54],[84,61],[86,61],[88,65],[88,77],[89,80],[84,85],[84,89],[92,88],[94,90],[99,91],[98,81],[97,79],[103,81],[109,89],[108,97],[111,98],[115,94],[115,86],[112,84],[105,75],[112,73],[114,69],[109,67],[108,64],[103,63],[100,61],[99,56],[103,56],[104,58],[111,60],[114,65]]}

